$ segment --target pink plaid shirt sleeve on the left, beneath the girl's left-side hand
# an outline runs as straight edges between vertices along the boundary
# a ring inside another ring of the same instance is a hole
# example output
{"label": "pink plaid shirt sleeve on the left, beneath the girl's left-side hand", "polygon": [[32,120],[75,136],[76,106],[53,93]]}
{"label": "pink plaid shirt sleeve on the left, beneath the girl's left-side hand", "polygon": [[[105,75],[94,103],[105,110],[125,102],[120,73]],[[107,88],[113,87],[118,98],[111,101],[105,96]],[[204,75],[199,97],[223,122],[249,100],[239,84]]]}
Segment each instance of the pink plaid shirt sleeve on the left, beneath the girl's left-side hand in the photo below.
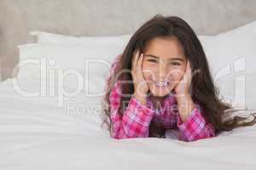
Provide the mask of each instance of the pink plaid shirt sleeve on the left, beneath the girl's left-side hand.
{"label": "pink plaid shirt sleeve on the left, beneath the girl's left-side hand", "polygon": [[123,111],[123,115],[121,115],[119,113],[120,93],[119,82],[115,82],[109,94],[111,137],[114,139],[148,137],[148,128],[154,111],[146,105],[142,105],[139,100],[132,96]]}

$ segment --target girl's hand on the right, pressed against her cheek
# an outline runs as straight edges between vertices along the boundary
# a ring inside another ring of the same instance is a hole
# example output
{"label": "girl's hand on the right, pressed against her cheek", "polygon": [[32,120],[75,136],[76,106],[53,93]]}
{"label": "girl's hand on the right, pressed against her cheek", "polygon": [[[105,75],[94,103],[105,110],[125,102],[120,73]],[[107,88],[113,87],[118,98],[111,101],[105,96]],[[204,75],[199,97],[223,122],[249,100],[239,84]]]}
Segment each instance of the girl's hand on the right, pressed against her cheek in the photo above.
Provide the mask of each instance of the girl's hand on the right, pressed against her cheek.
{"label": "girl's hand on the right, pressed against her cheek", "polygon": [[177,83],[175,87],[175,92],[177,97],[185,96],[189,94],[189,86],[192,80],[191,67],[189,60],[187,61],[186,71],[183,74],[183,78],[180,82]]}

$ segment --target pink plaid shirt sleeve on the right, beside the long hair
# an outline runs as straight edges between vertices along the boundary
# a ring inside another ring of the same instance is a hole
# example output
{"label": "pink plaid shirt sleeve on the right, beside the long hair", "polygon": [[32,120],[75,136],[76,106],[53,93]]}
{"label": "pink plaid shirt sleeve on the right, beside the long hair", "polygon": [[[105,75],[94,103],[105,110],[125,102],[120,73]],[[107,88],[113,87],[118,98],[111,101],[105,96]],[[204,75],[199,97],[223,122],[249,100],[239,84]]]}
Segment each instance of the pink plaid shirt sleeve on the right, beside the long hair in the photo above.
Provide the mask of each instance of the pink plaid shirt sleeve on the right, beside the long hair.
{"label": "pink plaid shirt sleeve on the right, beside the long hair", "polygon": [[177,127],[179,130],[178,139],[185,142],[215,136],[214,127],[211,123],[206,122],[202,116],[200,105],[195,105],[195,108],[191,111],[185,122],[182,122],[181,117],[177,114]]}

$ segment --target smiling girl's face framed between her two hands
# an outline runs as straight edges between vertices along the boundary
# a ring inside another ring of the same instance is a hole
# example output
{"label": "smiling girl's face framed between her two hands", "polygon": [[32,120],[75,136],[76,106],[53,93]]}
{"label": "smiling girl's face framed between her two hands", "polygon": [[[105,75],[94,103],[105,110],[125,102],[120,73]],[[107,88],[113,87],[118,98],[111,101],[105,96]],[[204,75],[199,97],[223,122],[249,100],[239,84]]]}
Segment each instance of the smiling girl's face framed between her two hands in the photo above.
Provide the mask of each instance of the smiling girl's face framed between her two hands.
{"label": "smiling girl's face framed between her two hands", "polygon": [[143,76],[154,96],[164,97],[183,77],[187,59],[176,37],[156,37],[144,51]]}

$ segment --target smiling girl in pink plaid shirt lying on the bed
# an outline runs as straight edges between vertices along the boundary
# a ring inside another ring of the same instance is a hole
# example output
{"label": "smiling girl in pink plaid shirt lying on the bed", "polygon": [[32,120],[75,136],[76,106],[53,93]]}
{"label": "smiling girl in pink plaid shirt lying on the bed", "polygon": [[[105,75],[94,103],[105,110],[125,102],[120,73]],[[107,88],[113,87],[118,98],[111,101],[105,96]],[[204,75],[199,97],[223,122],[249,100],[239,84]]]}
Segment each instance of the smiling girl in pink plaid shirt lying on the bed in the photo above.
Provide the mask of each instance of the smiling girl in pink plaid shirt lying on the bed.
{"label": "smiling girl in pink plaid shirt lying on the bed", "polygon": [[224,122],[236,110],[218,99],[201,42],[176,16],[148,20],[111,68],[103,123],[114,139],[165,138],[175,129],[188,142],[256,122],[254,114]]}

